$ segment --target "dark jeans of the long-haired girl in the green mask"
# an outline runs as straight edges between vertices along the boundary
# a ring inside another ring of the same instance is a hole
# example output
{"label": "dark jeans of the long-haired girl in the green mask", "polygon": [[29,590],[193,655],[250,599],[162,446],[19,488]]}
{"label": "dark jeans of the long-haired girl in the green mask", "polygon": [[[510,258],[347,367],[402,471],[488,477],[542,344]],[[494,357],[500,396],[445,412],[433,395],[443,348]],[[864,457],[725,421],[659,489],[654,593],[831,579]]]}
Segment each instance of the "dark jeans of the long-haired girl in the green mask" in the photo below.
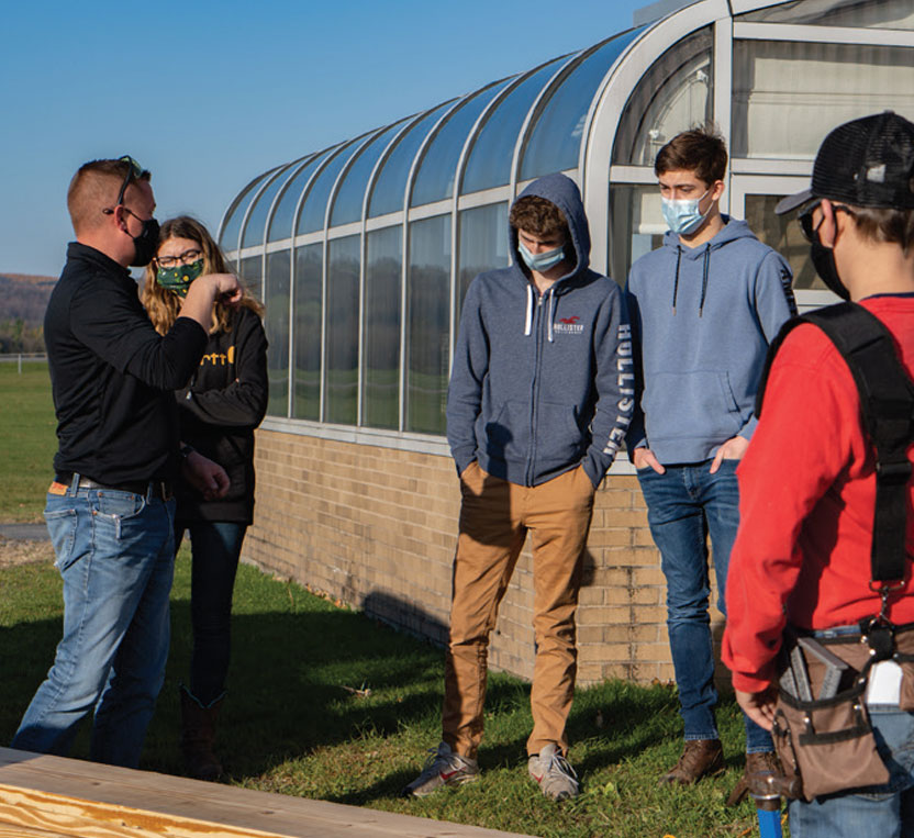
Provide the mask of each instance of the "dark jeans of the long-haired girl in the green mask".
{"label": "dark jeans of the long-haired girl in the green mask", "polygon": [[178,524],[175,530],[176,551],[185,528],[190,532],[193,557],[190,691],[200,704],[209,706],[225,692],[232,639],[232,591],[247,524],[215,521]]}

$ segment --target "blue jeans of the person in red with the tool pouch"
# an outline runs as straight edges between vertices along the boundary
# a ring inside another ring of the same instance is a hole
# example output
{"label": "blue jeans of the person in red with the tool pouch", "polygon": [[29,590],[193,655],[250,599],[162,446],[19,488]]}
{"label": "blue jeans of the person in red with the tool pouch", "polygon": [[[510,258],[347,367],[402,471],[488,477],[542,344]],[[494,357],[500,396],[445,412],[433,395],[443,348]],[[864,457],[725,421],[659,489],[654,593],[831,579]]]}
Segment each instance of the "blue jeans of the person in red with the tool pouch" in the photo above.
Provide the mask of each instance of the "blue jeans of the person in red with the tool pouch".
{"label": "blue jeans of the person in red with the tool pouch", "polygon": [[889,783],[866,792],[791,801],[792,838],[912,838],[914,836],[914,714],[870,708]]}

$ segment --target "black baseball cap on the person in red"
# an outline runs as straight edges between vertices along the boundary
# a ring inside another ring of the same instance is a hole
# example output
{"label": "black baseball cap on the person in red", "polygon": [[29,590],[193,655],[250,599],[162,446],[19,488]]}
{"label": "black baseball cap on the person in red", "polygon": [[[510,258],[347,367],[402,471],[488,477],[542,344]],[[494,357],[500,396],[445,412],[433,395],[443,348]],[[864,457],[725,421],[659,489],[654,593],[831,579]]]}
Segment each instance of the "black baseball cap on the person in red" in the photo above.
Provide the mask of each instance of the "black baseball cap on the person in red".
{"label": "black baseball cap on the person in red", "polygon": [[783,215],[820,198],[914,210],[914,123],[883,111],[838,125],[818,147],[810,188],[784,198],[774,212]]}

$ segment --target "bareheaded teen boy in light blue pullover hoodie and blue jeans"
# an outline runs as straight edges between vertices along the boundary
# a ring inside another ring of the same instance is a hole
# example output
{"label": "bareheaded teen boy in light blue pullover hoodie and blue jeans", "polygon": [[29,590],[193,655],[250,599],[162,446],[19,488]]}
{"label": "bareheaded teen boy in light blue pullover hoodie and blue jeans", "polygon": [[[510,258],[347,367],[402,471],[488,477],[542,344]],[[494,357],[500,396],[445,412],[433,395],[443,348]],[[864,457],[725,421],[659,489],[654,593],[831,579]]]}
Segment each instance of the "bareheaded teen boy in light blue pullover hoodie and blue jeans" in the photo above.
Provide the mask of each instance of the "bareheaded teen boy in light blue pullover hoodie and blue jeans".
{"label": "bareheaded teen boy in light blue pullover hoodie and blue jeans", "polygon": [[[744,221],[722,215],[723,139],[687,131],[657,155],[670,232],[628,275],[637,404],[627,435],[667,580],[667,628],[686,745],[660,783],[723,770],[714,707],[707,536],[717,608],[726,615],[729,551],[739,524],[736,466],[756,426],[768,344],[795,313],[790,268]],[[778,770],[770,735],[746,717],[746,772]]]}

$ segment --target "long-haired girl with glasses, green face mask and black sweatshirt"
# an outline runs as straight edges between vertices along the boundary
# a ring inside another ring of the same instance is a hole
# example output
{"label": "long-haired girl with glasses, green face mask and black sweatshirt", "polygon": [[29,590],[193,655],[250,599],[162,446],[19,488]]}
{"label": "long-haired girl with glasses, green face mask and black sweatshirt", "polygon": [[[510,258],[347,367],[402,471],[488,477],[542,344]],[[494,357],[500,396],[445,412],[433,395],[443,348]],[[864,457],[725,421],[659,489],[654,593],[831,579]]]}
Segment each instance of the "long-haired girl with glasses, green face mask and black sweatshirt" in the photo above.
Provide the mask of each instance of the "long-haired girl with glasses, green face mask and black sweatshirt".
{"label": "long-haired girl with glasses, green face mask and black sweatshirt", "polygon": [[[200,222],[189,216],[166,221],[142,293],[156,329],[168,332],[198,277],[225,272],[225,259]],[[188,774],[199,780],[222,775],[213,746],[228,670],[232,590],[254,511],[254,428],[267,409],[261,313],[247,292],[234,309],[216,301],[203,359],[176,392],[182,456],[199,451],[222,466],[231,481],[219,501],[205,500],[186,482],[176,489],[175,549],[187,530],[192,555],[193,650],[189,683],[180,689],[181,749]]]}

